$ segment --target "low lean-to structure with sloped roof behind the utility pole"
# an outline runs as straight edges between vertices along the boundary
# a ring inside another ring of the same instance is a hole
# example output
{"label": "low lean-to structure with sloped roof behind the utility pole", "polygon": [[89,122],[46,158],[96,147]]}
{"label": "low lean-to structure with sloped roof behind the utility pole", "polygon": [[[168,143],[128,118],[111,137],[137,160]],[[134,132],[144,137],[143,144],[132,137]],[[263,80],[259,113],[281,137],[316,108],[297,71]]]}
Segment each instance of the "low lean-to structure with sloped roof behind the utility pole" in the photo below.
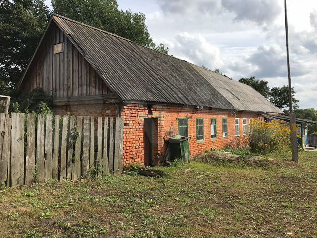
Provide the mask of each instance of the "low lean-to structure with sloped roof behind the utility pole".
{"label": "low lean-to structure with sloped roof behind the utility pole", "polygon": [[[287,115],[282,114],[262,114],[264,118],[273,119],[273,120],[282,120],[286,123],[290,123],[290,118]],[[305,147],[308,146],[308,134],[307,130],[308,127],[311,125],[316,125],[317,121],[303,119],[303,118],[296,118],[296,126],[297,126],[297,135],[299,136],[297,142],[300,146]]]}

